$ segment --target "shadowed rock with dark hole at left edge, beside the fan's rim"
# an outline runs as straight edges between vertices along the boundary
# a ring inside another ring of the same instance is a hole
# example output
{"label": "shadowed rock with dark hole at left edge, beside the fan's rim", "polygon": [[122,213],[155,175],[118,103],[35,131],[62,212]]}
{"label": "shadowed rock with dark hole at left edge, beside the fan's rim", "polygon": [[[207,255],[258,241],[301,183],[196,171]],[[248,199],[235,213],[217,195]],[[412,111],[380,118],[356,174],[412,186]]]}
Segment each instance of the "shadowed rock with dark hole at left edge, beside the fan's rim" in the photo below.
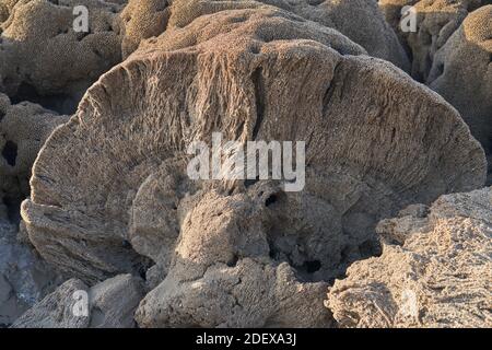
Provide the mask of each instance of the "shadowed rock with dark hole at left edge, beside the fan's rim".
{"label": "shadowed rock with dark hole at left edge, beside the fan's rim", "polygon": [[28,102],[11,104],[0,93],[0,218],[19,221],[19,208],[30,195],[31,167],[51,131],[68,121]]}

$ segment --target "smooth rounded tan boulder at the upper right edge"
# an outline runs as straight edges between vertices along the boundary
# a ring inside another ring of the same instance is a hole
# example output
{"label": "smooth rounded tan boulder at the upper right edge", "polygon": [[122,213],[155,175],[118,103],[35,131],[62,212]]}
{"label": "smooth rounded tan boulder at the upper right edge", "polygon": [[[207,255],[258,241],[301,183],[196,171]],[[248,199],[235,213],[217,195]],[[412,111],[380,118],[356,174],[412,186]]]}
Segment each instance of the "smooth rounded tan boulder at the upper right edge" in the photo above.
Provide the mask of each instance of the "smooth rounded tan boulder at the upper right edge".
{"label": "smooth rounded tan boulder at the upper right edge", "polygon": [[430,86],[460,113],[489,156],[492,182],[492,4],[470,13],[435,55]]}

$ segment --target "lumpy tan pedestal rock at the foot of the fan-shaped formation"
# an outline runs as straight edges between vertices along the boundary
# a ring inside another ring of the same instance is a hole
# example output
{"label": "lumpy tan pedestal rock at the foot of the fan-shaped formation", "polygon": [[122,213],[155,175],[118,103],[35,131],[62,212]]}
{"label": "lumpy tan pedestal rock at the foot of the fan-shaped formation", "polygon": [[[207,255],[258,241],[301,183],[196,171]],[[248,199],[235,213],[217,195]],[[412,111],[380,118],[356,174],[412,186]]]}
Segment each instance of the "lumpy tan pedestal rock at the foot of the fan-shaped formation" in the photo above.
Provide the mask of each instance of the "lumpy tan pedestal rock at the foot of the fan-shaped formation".
{"label": "lumpy tan pedestal rock at the foot of the fan-shaped formation", "polygon": [[265,205],[270,196],[259,189],[198,195],[169,272],[137,311],[139,326],[330,326],[330,314],[319,307],[327,283],[307,282],[271,256],[266,224],[273,211]]}

